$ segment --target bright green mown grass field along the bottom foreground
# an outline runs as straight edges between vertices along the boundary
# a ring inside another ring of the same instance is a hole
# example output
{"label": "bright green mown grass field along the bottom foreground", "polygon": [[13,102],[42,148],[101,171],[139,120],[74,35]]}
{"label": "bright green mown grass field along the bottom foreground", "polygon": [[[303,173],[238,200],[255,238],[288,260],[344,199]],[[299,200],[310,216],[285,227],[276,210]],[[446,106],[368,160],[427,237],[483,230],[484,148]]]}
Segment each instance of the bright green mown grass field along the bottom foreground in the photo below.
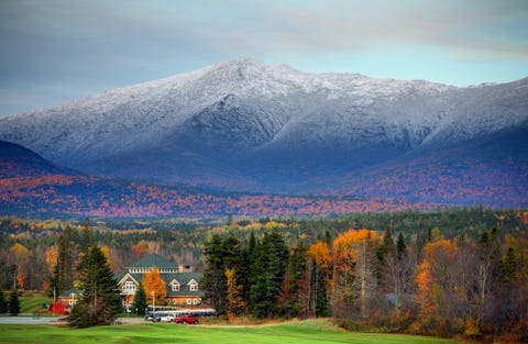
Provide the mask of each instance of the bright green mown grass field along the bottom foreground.
{"label": "bright green mown grass field along the bottom foreground", "polygon": [[287,322],[262,326],[194,326],[170,323],[142,323],[91,329],[56,325],[0,325],[0,343],[215,343],[215,344],[454,344],[450,340],[344,332],[328,320]]}

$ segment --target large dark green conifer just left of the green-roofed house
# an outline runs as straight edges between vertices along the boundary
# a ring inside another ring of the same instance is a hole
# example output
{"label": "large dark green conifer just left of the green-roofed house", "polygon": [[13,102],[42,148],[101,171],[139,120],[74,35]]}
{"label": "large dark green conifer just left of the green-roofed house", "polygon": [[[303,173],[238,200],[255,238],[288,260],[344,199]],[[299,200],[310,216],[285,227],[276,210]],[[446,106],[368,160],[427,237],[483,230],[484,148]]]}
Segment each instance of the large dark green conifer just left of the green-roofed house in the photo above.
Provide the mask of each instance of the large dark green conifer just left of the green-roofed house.
{"label": "large dark green conifer just left of the green-roofed house", "polygon": [[76,328],[111,324],[121,311],[118,282],[101,249],[94,245],[79,263],[79,301],[68,318]]}

